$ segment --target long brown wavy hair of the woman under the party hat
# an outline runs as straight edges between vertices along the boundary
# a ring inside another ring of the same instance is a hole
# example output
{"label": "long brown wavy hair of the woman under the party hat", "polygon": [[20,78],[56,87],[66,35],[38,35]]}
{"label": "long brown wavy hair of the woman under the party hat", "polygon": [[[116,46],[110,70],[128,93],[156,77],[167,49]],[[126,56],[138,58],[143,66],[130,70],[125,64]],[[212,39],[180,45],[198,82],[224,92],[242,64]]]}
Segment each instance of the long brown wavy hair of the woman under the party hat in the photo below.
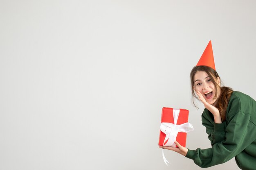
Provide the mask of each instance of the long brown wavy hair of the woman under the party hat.
{"label": "long brown wavy hair of the woman under the party hat", "polygon": [[[208,67],[208,66],[204,66],[204,65],[200,65],[200,66],[195,66],[191,72],[190,72],[190,80],[191,80],[191,89],[192,89],[192,96],[193,96],[193,104],[196,108],[198,108],[196,105],[195,105],[195,100],[194,98],[197,98],[198,97],[195,95],[195,91],[193,89],[193,87],[195,86],[195,83],[194,83],[194,76],[195,76],[195,73],[198,72],[198,71],[203,71],[203,72],[206,72],[208,74],[208,76],[211,78],[211,82],[213,83],[215,89],[216,89],[216,93],[215,95],[213,96],[213,99],[216,99],[217,98],[217,94],[220,93],[220,96],[219,98],[217,99],[217,109],[219,109],[220,111],[220,117],[221,117],[221,121],[225,121],[226,120],[226,112],[227,112],[227,105],[229,103],[229,98],[233,92],[233,89],[231,89],[230,87],[220,87],[218,85],[218,83],[216,82],[217,78],[220,76],[218,75],[218,73],[216,72],[216,70],[213,70],[212,68]],[[199,100],[199,99],[198,99]]]}

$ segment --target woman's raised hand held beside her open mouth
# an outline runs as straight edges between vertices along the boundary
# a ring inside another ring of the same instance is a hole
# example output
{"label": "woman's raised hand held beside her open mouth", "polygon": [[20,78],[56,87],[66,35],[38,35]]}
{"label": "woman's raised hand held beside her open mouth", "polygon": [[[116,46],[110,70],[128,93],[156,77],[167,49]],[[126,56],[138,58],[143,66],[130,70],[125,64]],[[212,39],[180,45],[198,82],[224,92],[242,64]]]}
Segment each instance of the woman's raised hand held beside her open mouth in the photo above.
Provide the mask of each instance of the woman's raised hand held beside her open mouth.
{"label": "woman's raised hand held beside her open mouth", "polygon": [[199,100],[204,104],[204,107],[213,114],[214,122],[222,123],[219,109],[208,103],[199,91],[197,91],[196,94],[198,95]]}

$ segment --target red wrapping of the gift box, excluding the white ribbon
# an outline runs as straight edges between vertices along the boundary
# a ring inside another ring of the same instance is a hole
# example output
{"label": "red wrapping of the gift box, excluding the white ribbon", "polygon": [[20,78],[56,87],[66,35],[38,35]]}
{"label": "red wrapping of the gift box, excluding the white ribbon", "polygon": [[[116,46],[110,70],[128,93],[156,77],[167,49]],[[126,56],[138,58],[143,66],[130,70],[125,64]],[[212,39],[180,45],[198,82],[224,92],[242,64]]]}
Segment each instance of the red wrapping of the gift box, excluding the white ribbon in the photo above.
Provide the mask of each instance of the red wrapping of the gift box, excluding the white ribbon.
{"label": "red wrapping of the gift box, excluding the white ribbon", "polygon": [[[178,119],[177,119],[177,125],[186,123],[186,122],[188,122],[188,120],[189,120],[189,111],[186,110],[186,109],[180,109],[180,113],[179,113],[179,116],[178,116]],[[168,123],[175,124],[174,118],[173,118],[173,108],[163,107],[161,123],[162,122],[168,122]],[[168,140],[167,140],[164,143],[165,137],[166,137],[166,134],[164,134],[164,132],[162,132],[160,130],[159,143],[158,143],[159,146],[163,146],[164,144],[166,144],[166,142],[168,142]],[[185,132],[178,132],[177,137],[176,137],[176,141],[179,142],[180,145],[186,147],[186,133]]]}

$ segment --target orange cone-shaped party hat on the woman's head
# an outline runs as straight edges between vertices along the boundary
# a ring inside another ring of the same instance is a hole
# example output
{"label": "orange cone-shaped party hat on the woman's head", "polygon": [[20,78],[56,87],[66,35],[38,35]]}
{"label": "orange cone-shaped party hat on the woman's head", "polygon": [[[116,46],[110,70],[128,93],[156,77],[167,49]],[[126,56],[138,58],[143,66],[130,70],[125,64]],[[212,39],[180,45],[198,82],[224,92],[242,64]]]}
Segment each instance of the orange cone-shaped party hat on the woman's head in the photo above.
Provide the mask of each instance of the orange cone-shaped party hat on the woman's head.
{"label": "orange cone-shaped party hat on the woman's head", "polygon": [[209,41],[207,47],[205,48],[196,66],[199,66],[199,65],[205,65],[216,70],[215,64],[214,64],[214,58],[213,58],[213,51],[211,47],[211,40]]}

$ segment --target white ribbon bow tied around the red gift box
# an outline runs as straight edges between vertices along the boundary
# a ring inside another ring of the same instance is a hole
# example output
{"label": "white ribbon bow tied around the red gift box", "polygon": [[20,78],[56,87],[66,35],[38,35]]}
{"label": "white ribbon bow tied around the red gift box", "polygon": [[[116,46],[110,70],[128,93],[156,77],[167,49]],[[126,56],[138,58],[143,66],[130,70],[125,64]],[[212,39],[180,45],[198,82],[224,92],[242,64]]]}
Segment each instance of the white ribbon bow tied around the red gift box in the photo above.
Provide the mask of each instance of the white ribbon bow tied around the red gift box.
{"label": "white ribbon bow tied around the red gift box", "polygon": [[[168,161],[166,160],[166,158],[164,156],[164,146],[175,147],[174,142],[176,140],[178,132],[185,132],[186,133],[186,132],[190,132],[190,131],[194,130],[192,124],[190,124],[190,123],[183,123],[183,124],[180,124],[180,125],[177,124],[179,114],[180,114],[180,109],[173,109],[174,124],[173,123],[168,123],[168,122],[162,122],[162,124],[160,126],[160,130],[162,132],[164,132],[164,134],[166,134],[166,137],[164,139],[164,143],[168,140],[165,145],[163,143],[163,150],[162,150],[164,163],[166,163],[167,166],[168,166],[168,164],[167,164]],[[170,163],[170,162],[168,162],[168,163]]]}

